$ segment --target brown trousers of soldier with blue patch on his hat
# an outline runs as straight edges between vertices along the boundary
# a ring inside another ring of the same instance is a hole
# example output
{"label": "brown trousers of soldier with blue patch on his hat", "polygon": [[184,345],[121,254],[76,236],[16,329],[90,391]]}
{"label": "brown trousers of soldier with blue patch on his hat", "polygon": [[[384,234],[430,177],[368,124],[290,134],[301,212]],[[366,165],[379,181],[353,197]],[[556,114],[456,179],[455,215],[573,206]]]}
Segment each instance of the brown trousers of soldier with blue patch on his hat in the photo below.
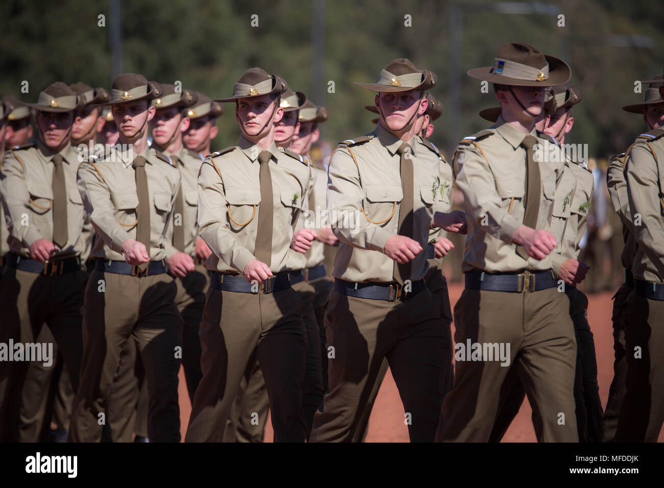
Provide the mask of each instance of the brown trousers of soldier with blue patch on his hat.
{"label": "brown trousers of soldier with blue patch on his hat", "polygon": [[[533,406],[540,442],[578,442],[574,405],[576,341],[569,300],[555,287],[509,293],[465,289],[454,307],[456,346],[510,345],[501,361],[456,361],[454,388],[443,402],[437,441],[487,442],[516,366]],[[456,356],[456,353],[455,353]],[[458,358],[457,358],[458,359]]]}

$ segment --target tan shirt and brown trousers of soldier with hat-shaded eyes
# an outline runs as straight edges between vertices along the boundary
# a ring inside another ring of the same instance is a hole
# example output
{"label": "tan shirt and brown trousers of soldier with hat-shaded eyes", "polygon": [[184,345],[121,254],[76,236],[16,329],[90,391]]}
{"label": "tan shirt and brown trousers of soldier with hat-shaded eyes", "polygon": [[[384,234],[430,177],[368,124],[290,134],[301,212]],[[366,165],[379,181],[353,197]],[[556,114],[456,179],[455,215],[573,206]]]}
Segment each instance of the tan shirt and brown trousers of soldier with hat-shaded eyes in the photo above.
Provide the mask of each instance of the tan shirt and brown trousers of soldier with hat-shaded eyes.
{"label": "tan shirt and brown trousers of soldier with hat-shaded eyes", "polygon": [[[353,440],[384,358],[404,409],[412,414],[410,440],[434,438],[450,335],[423,282],[429,266],[424,252],[410,264],[410,293],[394,301],[353,296],[357,289],[382,295],[394,284],[394,261],[382,250],[398,232],[403,203],[398,149],[403,143],[377,125],[369,136],[341,143],[330,160],[327,210],[341,244],[325,315],[327,345],[333,348],[329,390],[314,417],[311,442]],[[447,208],[437,190],[446,179],[446,163],[422,139],[412,137],[408,144],[414,185],[410,237],[424,249],[434,212]]]}

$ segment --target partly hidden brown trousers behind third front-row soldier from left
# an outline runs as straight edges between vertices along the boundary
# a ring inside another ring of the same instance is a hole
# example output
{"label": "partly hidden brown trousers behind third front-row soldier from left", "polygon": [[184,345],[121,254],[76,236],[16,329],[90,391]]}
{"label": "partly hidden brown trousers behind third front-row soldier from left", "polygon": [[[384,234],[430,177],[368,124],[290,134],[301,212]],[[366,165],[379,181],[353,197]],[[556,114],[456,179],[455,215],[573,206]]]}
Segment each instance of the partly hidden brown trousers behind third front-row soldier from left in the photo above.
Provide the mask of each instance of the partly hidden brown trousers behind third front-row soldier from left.
{"label": "partly hidden brown trousers behind third front-row soldier from left", "polygon": [[[307,329],[307,359],[302,383],[302,413],[307,426],[307,438],[311,432],[313,414],[323,403],[321,379],[320,333],[313,310],[316,289],[307,282],[293,285],[301,299],[300,316]],[[262,442],[268,418],[268,391],[260,367],[254,366],[252,375],[240,386],[233,404],[224,442]],[[244,388],[243,388],[244,386]],[[262,422],[261,422],[262,420]]]}

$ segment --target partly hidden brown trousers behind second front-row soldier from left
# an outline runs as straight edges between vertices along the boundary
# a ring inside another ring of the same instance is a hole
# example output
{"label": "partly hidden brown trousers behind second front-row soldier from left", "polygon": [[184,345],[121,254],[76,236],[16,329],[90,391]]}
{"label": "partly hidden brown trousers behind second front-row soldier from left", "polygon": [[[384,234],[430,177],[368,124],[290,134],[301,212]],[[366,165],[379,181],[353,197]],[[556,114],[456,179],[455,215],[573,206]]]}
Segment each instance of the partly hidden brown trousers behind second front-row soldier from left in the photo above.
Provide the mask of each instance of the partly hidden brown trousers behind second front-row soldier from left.
{"label": "partly hidden brown trousers behind second front-row soldier from left", "polygon": [[[189,400],[193,403],[194,393],[203,377],[199,325],[210,278],[203,265],[197,264],[195,270],[185,278],[174,280],[177,285],[175,305],[183,319],[182,365]],[[140,362],[135,345],[127,341],[108,397],[108,422],[113,442],[131,442],[133,432],[137,436],[145,436],[145,370]]]}

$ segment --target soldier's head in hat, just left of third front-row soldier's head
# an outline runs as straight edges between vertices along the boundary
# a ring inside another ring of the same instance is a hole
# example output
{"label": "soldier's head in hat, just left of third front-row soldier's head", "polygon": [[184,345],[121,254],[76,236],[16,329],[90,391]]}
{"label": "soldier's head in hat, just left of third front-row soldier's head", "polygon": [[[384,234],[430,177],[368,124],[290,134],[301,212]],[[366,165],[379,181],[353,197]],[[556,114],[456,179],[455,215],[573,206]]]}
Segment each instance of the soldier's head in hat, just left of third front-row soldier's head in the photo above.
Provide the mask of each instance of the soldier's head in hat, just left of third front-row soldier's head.
{"label": "soldier's head in hat, just left of third front-row soldier's head", "polygon": [[185,147],[196,151],[201,156],[210,154],[212,139],[219,133],[216,127],[216,119],[224,113],[224,108],[217,102],[212,102],[210,97],[201,92],[192,92],[196,97],[195,106],[187,110],[187,117],[191,122],[185,130],[183,141]]}

